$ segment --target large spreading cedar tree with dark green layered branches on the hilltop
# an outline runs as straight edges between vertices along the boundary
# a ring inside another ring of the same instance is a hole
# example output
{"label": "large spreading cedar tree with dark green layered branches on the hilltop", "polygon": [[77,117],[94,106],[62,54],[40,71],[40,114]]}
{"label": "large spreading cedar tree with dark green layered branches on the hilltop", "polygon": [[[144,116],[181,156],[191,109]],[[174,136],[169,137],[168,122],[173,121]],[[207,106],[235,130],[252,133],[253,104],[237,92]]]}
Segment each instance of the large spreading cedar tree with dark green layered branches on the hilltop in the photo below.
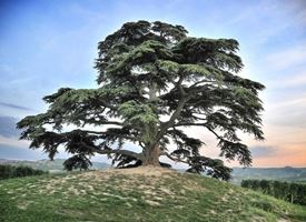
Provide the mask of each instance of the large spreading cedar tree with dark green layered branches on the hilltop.
{"label": "large spreading cedar tree with dark green layered branches on the hilltop", "polygon": [[[98,44],[97,89],[61,88],[45,97],[47,112],[18,123],[21,139],[42,147],[50,159],[63,145],[73,154],[65,162],[68,170],[87,168],[95,153],[117,167],[164,165],[165,155],[189,171],[228,180],[230,169],[203,157],[204,142],[184,128],[210,131],[220,157],[251,163],[237,131],[264,139],[258,98],[264,85],[237,75],[243,68],[237,50],[234,39],[187,37],[181,26],[125,23]],[[141,152],[125,149],[126,142]]]}

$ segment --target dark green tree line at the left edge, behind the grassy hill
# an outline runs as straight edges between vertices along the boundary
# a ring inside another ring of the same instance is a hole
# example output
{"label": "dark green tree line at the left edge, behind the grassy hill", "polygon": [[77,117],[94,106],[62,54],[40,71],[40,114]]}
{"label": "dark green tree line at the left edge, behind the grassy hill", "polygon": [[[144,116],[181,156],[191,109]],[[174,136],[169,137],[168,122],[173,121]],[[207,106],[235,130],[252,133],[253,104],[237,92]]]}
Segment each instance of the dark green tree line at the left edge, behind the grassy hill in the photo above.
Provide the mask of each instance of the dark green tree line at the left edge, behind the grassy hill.
{"label": "dark green tree line at the left edge, behind the grassy hill", "polygon": [[47,173],[42,170],[36,170],[27,165],[0,164],[0,180],[10,178],[21,178],[27,175],[41,175]]}

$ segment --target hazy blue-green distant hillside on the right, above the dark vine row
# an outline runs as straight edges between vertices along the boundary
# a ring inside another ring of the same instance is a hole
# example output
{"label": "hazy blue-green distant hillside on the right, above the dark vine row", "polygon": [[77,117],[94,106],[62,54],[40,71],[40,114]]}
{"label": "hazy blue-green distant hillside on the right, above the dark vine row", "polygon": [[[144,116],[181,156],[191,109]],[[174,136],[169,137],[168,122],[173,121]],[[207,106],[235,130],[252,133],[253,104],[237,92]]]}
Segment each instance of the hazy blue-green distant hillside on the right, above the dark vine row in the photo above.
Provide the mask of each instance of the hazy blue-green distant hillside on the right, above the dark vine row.
{"label": "hazy blue-green distant hillside on the right, above the dark vine row", "polygon": [[306,168],[234,168],[231,176],[235,184],[247,179],[306,182]]}

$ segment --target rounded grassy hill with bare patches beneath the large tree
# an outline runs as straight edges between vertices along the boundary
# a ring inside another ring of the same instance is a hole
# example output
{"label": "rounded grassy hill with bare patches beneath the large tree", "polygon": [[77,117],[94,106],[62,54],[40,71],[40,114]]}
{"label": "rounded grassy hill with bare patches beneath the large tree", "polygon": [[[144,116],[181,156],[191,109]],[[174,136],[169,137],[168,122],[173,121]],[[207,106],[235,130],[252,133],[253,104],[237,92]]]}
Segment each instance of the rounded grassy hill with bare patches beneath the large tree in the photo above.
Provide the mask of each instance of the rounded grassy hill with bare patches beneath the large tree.
{"label": "rounded grassy hill with bare patches beneath the large tree", "polygon": [[0,181],[0,221],[306,221],[305,206],[201,175],[138,168]]}

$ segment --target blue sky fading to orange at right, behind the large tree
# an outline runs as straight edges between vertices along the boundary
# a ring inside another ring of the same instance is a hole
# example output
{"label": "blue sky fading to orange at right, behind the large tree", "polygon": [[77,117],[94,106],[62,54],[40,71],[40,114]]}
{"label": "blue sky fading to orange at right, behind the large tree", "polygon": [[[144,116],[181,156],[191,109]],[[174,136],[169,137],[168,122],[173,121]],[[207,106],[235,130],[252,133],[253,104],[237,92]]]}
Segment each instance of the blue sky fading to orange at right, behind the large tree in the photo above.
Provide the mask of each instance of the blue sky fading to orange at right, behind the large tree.
{"label": "blue sky fading to orange at right, behind the large tree", "polygon": [[[41,98],[58,88],[96,88],[98,42],[138,20],[181,24],[190,37],[238,40],[239,74],[267,88],[260,93],[265,141],[243,135],[253,167],[306,167],[303,0],[0,0],[0,159],[47,158],[18,140],[16,122],[45,112]],[[206,142],[203,154],[218,157],[214,137],[188,133]]]}

